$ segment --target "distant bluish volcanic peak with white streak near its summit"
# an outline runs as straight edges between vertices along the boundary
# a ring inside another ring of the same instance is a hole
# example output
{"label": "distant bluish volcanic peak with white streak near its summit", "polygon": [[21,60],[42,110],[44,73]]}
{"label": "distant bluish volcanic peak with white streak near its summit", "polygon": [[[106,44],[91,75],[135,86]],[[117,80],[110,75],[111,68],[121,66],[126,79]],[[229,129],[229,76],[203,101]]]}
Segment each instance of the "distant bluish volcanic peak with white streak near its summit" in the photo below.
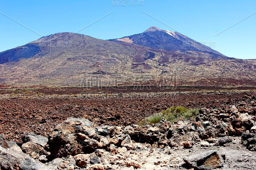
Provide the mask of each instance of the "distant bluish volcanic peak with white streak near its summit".
{"label": "distant bluish volcanic peak with white streak near its summit", "polygon": [[205,52],[210,54],[211,58],[213,59],[230,59],[218,51],[215,51],[212,48],[205,46],[204,44],[192,40],[191,38],[182,35],[181,33],[161,30],[154,26],[150,27],[143,33],[126,36],[120,39],[112,39],[110,41],[123,41],[153,49],[164,49],[167,51]]}

